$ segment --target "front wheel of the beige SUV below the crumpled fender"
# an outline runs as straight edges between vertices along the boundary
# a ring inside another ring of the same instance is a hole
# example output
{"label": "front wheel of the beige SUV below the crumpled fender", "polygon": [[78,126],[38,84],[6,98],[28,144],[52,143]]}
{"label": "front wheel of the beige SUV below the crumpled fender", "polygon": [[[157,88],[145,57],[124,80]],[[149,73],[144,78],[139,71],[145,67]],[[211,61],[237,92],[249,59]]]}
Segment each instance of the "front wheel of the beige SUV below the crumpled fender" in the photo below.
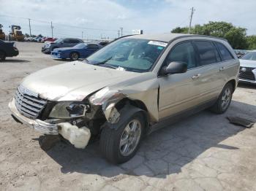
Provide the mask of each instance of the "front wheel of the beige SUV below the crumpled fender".
{"label": "front wheel of the beige SUV below the crumpled fender", "polygon": [[[137,128],[132,131],[130,126],[137,122]],[[140,147],[140,141],[143,137],[145,130],[145,121],[143,120],[143,114],[137,112],[129,117],[126,122],[123,122],[118,129],[113,129],[108,126],[102,128],[99,139],[99,147],[102,155],[110,162],[114,164],[125,163],[134,157],[138,148]],[[130,132],[134,135],[130,137],[127,134],[127,129],[129,125]],[[140,130],[138,130],[140,128]],[[127,139],[126,139],[127,138]],[[121,144],[121,139],[127,140],[127,144]],[[130,141],[130,142],[129,142]],[[127,149],[125,149],[127,148]],[[127,152],[125,152],[127,150]]]}

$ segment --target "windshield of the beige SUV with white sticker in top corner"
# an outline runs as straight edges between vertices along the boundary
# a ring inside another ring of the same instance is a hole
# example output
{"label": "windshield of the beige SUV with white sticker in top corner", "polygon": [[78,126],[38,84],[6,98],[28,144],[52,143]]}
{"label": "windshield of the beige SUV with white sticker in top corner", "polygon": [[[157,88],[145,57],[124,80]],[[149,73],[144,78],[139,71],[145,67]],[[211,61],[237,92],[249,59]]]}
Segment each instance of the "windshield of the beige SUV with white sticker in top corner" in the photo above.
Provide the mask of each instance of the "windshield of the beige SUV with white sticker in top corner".
{"label": "windshield of the beige SUV with white sticker in top corner", "polygon": [[151,69],[166,46],[167,42],[148,39],[119,39],[95,52],[86,61],[96,65],[108,64],[116,69],[145,72]]}

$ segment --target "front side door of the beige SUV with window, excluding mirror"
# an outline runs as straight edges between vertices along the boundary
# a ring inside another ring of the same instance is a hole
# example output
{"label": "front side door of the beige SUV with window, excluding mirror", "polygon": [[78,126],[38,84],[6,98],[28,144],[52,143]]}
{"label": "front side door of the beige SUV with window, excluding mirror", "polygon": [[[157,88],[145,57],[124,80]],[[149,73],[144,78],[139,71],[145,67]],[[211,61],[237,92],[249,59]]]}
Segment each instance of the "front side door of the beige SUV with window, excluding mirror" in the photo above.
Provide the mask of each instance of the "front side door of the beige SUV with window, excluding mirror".
{"label": "front side door of the beige SUV with window, excluding mirror", "polygon": [[165,63],[187,63],[187,72],[159,77],[159,119],[183,112],[200,103],[197,56],[192,42],[180,42],[170,50]]}

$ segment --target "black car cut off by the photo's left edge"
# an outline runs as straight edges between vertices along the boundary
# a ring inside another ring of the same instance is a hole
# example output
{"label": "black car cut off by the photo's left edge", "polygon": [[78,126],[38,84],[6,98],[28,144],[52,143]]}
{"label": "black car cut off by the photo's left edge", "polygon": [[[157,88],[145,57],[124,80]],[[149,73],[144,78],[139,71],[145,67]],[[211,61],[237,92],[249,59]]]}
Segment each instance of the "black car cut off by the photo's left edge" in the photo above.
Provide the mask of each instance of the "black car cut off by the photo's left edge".
{"label": "black car cut off by the photo's left edge", "polygon": [[19,51],[15,42],[4,42],[0,40],[0,61],[4,61],[7,57],[17,56]]}

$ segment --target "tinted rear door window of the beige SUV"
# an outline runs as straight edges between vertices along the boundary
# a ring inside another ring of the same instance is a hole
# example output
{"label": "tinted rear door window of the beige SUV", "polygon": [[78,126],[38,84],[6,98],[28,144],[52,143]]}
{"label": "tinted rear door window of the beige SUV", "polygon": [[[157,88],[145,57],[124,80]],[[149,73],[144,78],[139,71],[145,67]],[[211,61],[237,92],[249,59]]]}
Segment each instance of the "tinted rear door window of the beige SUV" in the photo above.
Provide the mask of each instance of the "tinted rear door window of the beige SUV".
{"label": "tinted rear door window of the beige SUV", "polygon": [[220,61],[217,49],[216,47],[214,47],[214,44],[212,44],[212,42],[196,41],[195,46],[198,50],[200,66],[217,63]]}

